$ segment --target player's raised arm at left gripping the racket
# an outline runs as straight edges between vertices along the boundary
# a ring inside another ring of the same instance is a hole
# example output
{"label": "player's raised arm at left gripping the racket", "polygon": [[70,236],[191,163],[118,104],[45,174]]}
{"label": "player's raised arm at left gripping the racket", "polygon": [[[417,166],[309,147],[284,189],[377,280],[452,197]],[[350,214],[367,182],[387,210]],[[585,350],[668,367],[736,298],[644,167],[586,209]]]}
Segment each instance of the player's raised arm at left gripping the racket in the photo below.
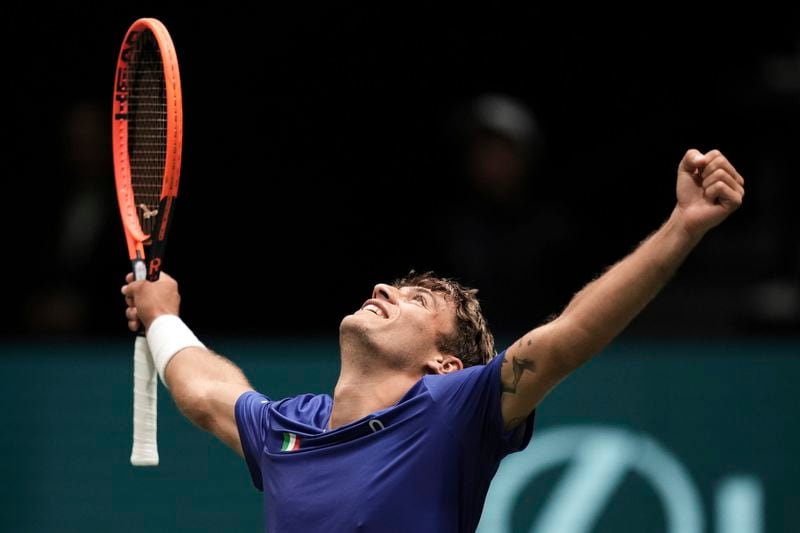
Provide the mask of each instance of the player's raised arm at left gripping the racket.
{"label": "player's raised arm at left gripping the racket", "polygon": [[[164,273],[156,282],[132,281],[130,274],[127,281],[122,294],[128,304],[128,327],[137,331],[140,322],[144,324],[153,348],[154,329],[160,329],[161,339],[168,339],[170,328],[175,328],[176,321],[170,317],[176,317],[180,308],[178,284]],[[236,365],[204,347],[190,346],[169,359],[162,378],[186,418],[242,455],[234,405],[252,387]]]}

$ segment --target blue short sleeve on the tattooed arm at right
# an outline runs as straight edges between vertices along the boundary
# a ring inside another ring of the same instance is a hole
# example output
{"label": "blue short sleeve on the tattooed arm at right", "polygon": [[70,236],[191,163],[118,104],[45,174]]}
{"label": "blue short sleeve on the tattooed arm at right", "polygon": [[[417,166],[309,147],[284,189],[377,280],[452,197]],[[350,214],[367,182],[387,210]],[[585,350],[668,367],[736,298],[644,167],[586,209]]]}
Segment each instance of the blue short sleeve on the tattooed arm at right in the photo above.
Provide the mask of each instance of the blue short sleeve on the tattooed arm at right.
{"label": "blue short sleeve on the tattooed arm at right", "polygon": [[487,365],[478,365],[445,376],[431,376],[429,390],[456,431],[477,437],[481,450],[502,459],[524,449],[533,435],[536,412],[525,423],[506,431],[501,409],[500,367],[506,352],[495,356]]}

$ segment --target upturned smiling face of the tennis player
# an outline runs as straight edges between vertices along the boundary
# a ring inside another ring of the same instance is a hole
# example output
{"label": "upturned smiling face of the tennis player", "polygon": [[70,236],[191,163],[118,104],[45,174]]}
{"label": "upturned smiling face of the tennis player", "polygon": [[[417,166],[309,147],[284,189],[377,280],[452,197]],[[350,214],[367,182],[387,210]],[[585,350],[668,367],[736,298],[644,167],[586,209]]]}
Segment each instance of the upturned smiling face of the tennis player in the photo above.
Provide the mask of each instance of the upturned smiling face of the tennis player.
{"label": "upturned smiling face of the tennis player", "polygon": [[455,306],[441,293],[422,287],[378,284],[372,298],[342,321],[341,331],[355,332],[392,366],[418,367],[439,353],[441,335],[453,333]]}

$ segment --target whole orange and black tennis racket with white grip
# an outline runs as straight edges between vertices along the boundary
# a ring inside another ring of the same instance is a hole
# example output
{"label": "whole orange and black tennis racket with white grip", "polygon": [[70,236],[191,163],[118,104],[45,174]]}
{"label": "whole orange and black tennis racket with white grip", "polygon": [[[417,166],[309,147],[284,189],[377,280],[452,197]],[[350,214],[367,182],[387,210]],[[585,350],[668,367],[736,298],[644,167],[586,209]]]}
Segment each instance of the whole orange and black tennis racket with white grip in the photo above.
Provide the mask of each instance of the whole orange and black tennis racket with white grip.
{"label": "whole orange and black tennis racket with white grip", "polygon": [[[183,110],[178,58],[166,27],[139,19],[125,35],[114,82],[112,143],[117,200],[137,280],[158,279],[175,210]],[[133,357],[131,464],[158,464],[158,373],[144,333]]]}

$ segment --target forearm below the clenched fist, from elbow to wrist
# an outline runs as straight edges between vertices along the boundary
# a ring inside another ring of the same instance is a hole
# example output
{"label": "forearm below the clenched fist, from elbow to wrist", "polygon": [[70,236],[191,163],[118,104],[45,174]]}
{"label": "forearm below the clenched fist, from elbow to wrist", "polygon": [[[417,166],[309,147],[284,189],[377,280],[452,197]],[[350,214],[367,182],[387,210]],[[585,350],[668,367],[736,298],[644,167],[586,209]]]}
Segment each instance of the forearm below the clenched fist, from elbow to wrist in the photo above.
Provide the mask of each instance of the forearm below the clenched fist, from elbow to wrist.
{"label": "forearm below the clenched fist, from elbow to wrist", "polygon": [[637,249],[584,287],[557,319],[567,328],[563,351],[571,366],[592,357],[616,337],[666,285],[699,238],[677,211]]}

